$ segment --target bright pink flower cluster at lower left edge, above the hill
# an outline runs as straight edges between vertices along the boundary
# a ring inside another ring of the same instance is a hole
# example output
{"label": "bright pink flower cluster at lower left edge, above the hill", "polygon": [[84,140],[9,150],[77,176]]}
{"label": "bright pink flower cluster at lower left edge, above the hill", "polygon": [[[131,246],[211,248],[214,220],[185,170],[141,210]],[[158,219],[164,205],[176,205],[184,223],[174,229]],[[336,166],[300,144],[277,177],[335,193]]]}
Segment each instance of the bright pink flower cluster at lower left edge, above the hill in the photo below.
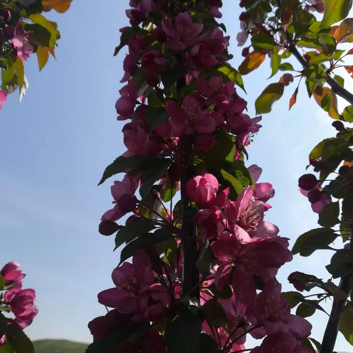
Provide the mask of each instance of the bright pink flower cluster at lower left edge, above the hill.
{"label": "bright pink flower cluster at lower left edge, above the hill", "polygon": [[[35,291],[22,289],[22,280],[25,275],[18,269],[19,267],[20,265],[16,262],[9,262],[0,270],[0,275],[4,279],[2,290],[6,290],[5,293],[0,293],[0,305],[3,312],[11,312],[14,315],[14,318],[6,318],[7,325],[17,325],[20,329],[24,329],[32,323],[38,310],[34,305]],[[5,343],[6,330],[0,331],[0,346]]]}

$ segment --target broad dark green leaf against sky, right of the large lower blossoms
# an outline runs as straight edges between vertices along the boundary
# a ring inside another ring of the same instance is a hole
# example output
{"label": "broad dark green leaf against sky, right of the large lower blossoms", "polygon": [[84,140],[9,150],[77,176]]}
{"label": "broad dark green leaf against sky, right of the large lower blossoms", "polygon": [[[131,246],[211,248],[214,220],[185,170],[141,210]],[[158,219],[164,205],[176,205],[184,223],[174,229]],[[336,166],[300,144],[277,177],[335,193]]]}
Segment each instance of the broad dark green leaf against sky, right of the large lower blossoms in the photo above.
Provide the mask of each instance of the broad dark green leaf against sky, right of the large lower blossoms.
{"label": "broad dark green leaf against sky, right of the large lower blossoms", "polygon": [[300,253],[301,256],[310,256],[315,250],[329,249],[337,235],[331,228],[317,228],[306,232],[295,242],[292,253],[293,255]]}

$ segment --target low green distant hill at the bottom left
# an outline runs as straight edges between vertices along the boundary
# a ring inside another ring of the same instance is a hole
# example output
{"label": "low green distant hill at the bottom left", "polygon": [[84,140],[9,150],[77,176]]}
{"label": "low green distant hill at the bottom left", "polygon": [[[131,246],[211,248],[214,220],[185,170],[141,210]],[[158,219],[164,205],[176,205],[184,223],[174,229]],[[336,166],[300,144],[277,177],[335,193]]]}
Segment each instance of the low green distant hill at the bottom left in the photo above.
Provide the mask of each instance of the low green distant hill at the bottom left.
{"label": "low green distant hill at the bottom left", "polygon": [[88,343],[65,340],[40,340],[33,342],[35,353],[84,353]]}

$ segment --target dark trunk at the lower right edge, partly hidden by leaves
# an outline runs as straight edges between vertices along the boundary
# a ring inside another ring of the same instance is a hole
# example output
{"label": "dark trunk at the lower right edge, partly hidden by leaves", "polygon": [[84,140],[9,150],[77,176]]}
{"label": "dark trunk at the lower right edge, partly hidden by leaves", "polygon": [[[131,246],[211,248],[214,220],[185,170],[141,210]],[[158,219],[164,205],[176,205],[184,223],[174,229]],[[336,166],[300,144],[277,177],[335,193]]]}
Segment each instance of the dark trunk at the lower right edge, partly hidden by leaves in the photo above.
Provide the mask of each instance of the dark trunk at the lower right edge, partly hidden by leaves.
{"label": "dark trunk at the lower right edge, partly hidden by leaves", "polygon": [[[351,226],[351,240],[349,242],[350,251],[353,251],[353,226]],[[349,279],[351,278],[351,274],[343,276],[340,281],[339,288],[341,291],[349,294]],[[327,323],[324,337],[322,340],[322,345],[320,349],[320,353],[332,353],[335,348],[335,343],[337,339],[338,330],[340,327],[340,321],[342,316],[343,308],[345,307],[347,299],[337,300],[333,299],[332,310],[330,313],[330,318]]]}

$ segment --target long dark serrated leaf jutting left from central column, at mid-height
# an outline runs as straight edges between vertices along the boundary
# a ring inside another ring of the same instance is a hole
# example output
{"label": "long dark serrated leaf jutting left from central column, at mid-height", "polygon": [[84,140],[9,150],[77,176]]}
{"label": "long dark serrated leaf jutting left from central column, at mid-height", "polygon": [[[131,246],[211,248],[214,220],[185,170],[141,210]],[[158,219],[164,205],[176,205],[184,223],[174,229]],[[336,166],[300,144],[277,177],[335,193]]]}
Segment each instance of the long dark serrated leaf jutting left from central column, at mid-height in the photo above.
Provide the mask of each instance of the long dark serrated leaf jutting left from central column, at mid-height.
{"label": "long dark serrated leaf jutting left from central column, at mid-height", "polygon": [[109,164],[104,170],[101,181],[98,185],[101,185],[108,178],[115,174],[130,172],[133,177],[139,175],[140,172],[150,170],[151,168],[163,168],[168,167],[170,161],[167,158],[160,157],[148,157],[135,155],[130,157],[118,157],[116,160]]}

